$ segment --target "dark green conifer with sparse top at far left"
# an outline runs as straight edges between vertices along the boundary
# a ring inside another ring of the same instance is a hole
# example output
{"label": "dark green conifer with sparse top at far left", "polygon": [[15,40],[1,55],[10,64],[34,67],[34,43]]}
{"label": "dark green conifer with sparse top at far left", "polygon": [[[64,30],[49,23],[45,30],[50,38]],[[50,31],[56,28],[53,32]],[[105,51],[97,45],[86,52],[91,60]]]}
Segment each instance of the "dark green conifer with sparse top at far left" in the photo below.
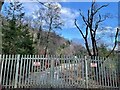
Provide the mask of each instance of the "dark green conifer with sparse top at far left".
{"label": "dark green conifer with sparse top at far left", "polygon": [[3,53],[6,54],[33,54],[33,40],[28,26],[23,25],[24,17],[22,4],[10,3],[6,8],[6,21],[3,22]]}

